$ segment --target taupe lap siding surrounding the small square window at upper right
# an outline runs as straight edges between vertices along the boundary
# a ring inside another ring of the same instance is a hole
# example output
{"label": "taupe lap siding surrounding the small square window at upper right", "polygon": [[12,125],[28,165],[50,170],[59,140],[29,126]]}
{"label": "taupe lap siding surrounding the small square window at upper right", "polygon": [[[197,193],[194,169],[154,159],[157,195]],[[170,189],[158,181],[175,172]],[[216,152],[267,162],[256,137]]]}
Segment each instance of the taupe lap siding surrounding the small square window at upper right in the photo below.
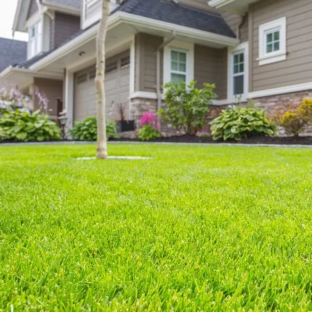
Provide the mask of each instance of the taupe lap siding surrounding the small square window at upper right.
{"label": "taupe lap siding surrounding the small square window at upper right", "polygon": [[[252,91],[312,81],[312,1],[264,0],[252,7]],[[287,60],[259,66],[259,26],[286,17]]]}

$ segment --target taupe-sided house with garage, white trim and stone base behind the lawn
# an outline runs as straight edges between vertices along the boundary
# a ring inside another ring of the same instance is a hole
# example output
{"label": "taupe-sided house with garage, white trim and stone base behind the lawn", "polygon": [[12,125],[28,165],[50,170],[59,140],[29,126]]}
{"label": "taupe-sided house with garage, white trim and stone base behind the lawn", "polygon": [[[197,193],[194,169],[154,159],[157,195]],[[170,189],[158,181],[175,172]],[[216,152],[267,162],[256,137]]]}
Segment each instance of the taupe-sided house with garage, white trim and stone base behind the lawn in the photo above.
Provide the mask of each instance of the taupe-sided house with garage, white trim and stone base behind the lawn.
{"label": "taupe-sided house with garage, white trim and stone base behind the lawn", "polygon": [[[312,89],[311,10],[308,0],[112,0],[107,119],[127,103],[138,121],[162,105],[164,83],[192,79],[216,84],[213,114],[238,96],[270,113],[299,103]],[[100,18],[101,0],[19,0],[13,30],[29,33],[28,58],[1,80],[61,98],[68,127],[94,116]]]}

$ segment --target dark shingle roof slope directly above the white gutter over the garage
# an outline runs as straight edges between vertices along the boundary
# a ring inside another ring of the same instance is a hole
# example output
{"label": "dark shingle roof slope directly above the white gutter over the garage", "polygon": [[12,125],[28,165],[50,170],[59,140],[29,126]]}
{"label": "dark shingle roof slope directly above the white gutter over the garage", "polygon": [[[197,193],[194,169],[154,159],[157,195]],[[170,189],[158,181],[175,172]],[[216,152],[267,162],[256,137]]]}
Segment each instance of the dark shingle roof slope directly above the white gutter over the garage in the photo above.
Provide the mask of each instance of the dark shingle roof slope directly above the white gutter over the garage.
{"label": "dark shingle roof slope directly above the white gutter over the garage", "polygon": [[116,11],[196,28],[200,31],[209,31],[218,35],[236,37],[220,15],[183,6],[172,0],[127,0]]}

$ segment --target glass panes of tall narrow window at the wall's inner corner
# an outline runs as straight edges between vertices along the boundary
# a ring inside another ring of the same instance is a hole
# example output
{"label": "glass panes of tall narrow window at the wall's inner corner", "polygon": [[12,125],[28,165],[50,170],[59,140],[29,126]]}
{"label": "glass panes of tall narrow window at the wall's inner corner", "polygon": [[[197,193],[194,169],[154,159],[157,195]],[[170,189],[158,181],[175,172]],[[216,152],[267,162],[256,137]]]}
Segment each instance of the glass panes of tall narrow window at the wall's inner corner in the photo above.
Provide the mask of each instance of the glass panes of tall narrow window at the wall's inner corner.
{"label": "glass panes of tall narrow window at the wall's inner corner", "polygon": [[245,93],[245,53],[244,51],[233,54],[233,95],[239,96]]}

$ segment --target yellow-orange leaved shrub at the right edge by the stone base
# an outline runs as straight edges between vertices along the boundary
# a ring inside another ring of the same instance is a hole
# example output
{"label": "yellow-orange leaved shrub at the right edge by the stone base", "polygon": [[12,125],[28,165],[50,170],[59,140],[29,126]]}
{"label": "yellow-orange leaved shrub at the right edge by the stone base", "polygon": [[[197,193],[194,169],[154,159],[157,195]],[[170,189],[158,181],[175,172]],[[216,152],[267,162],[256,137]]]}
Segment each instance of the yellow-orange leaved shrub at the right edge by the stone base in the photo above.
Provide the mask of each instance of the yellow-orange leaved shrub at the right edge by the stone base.
{"label": "yellow-orange leaved shrub at the right edge by the stone base", "polygon": [[312,121],[312,100],[305,98],[296,110],[288,110],[277,117],[277,123],[285,129],[287,135],[297,136]]}

